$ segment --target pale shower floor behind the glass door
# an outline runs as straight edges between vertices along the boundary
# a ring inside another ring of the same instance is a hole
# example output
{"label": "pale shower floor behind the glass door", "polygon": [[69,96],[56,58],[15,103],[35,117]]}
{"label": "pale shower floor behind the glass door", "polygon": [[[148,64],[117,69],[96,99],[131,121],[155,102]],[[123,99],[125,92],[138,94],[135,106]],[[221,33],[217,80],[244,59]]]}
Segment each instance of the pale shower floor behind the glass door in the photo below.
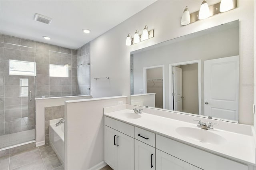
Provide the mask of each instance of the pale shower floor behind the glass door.
{"label": "pale shower floor behind the glass door", "polygon": [[35,129],[25,130],[0,137],[0,148],[5,148],[15,144],[20,144],[35,139]]}

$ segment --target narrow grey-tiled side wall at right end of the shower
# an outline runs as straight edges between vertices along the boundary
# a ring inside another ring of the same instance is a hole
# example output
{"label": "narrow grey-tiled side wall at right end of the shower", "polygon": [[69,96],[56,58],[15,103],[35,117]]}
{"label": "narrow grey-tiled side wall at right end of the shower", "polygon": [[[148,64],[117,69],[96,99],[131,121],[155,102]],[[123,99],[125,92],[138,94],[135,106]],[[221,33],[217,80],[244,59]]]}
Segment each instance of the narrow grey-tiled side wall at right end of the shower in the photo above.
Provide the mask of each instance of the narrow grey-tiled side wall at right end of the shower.
{"label": "narrow grey-tiled side wall at right end of the shower", "polygon": [[90,95],[90,42],[76,50],[77,95]]}

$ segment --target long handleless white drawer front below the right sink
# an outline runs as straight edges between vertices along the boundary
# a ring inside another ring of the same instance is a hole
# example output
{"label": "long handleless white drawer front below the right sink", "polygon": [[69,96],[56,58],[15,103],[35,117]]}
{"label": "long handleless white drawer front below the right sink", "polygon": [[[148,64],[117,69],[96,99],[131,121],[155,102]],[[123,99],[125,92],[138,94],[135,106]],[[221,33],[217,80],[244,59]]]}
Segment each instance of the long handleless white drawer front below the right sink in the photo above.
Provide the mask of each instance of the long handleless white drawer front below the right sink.
{"label": "long handleless white drawer front below the right sink", "polygon": [[156,134],[156,148],[204,170],[248,170],[248,166]]}

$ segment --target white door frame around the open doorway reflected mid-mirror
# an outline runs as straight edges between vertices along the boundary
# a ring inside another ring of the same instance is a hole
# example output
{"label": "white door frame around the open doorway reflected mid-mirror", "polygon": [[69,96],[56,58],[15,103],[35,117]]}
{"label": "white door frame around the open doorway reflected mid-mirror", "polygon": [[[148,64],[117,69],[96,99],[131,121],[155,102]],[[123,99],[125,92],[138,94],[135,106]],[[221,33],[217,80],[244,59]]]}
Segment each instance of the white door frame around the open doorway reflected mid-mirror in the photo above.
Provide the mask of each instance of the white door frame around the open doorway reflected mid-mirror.
{"label": "white door frame around the open doorway reflected mid-mirror", "polygon": [[174,66],[178,65],[188,65],[188,64],[198,64],[198,114],[202,115],[202,106],[201,106],[201,59],[198,60],[192,60],[192,61],[184,61],[184,62],[179,62],[179,63],[172,63],[169,64],[169,109],[173,108],[173,78],[172,78],[172,70]]}

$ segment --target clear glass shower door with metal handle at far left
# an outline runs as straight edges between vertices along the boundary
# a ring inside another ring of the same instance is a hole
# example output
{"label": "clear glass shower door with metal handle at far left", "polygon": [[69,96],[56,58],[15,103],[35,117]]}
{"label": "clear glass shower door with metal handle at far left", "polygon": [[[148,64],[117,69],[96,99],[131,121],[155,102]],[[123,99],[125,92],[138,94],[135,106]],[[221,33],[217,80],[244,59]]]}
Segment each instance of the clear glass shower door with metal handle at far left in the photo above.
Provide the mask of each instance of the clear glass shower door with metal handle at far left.
{"label": "clear glass shower door with metal handle at far left", "polygon": [[33,62],[4,60],[0,148],[35,139],[35,69]]}

